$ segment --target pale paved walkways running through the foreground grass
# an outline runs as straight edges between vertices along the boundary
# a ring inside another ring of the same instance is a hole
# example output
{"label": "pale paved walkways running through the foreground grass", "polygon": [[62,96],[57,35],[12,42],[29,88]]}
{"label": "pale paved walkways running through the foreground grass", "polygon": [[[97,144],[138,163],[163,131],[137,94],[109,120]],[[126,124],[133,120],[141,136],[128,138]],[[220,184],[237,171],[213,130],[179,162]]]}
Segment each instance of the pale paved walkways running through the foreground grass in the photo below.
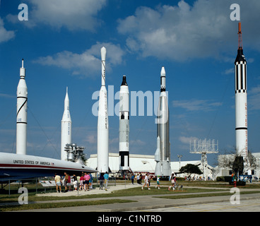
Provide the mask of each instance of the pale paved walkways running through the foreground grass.
{"label": "pale paved walkways running through the foreground grass", "polygon": [[[104,199],[123,199],[123,200],[131,200],[135,201],[132,203],[113,203],[113,204],[103,204],[103,205],[95,205],[95,206],[76,206],[76,207],[66,207],[66,208],[49,208],[49,209],[37,209],[37,210],[23,210],[23,212],[124,212],[124,211],[138,211],[138,210],[152,210],[152,209],[160,209],[160,208],[170,208],[177,206],[191,206],[191,205],[201,205],[209,203],[209,205],[214,205],[214,203],[220,202],[229,202],[230,196],[213,196],[213,197],[200,197],[200,198],[178,198],[178,199],[170,199],[163,198],[163,196],[169,195],[180,195],[180,193],[174,194],[162,194],[162,195],[147,195],[147,196],[122,196],[122,197],[107,197],[107,198],[81,198],[81,196],[85,194],[104,194],[110,193],[112,191],[116,191],[119,189],[129,189],[136,187],[131,184],[126,185],[117,185],[117,186],[109,186],[107,191],[93,189],[90,191],[69,191],[67,193],[52,193],[52,194],[38,194],[38,196],[78,196],[78,199],[73,200],[61,200],[61,201],[51,201],[54,202],[66,202],[66,201],[93,201],[93,200],[104,200]],[[140,186],[141,189],[141,186]],[[146,188],[147,189],[147,188]],[[154,187],[152,186],[152,189]],[[213,189],[213,188],[208,188]],[[214,188],[215,189],[215,188]],[[230,191],[230,189],[219,189],[219,193]],[[241,189],[242,191],[252,191],[257,189]],[[127,190],[126,190],[127,192]],[[207,192],[208,193],[208,192]],[[215,191],[213,193],[216,193]],[[183,194],[186,195],[187,193]],[[160,196],[161,198],[155,198]],[[257,211],[260,211],[260,194],[240,194],[240,200],[247,201],[254,199],[256,202],[258,201],[259,207],[257,207]],[[49,203],[50,201],[37,201],[31,203]],[[30,201],[29,201],[30,204]],[[230,205],[232,205],[230,203]],[[257,206],[257,205],[256,205]],[[214,208],[212,208],[214,209]],[[184,210],[185,211],[185,210]],[[198,211],[198,210],[197,210]],[[247,211],[247,209],[244,209]]]}

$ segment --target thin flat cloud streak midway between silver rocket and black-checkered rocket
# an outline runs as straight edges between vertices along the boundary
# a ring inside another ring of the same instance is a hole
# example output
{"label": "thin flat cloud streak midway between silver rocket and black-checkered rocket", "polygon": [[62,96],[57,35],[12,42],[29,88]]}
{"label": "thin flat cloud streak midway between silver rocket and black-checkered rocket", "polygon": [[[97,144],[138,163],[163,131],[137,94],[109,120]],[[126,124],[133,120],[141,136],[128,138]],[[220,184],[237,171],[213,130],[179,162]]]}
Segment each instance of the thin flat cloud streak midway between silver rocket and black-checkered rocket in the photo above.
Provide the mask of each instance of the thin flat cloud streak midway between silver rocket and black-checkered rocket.
{"label": "thin flat cloud streak midway between silver rocket and black-checkered rocket", "polygon": [[173,107],[182,107],[188,111],[212,111],[215,107],[223,105],[221,102],[211,102],[210,100],[174,100]]}

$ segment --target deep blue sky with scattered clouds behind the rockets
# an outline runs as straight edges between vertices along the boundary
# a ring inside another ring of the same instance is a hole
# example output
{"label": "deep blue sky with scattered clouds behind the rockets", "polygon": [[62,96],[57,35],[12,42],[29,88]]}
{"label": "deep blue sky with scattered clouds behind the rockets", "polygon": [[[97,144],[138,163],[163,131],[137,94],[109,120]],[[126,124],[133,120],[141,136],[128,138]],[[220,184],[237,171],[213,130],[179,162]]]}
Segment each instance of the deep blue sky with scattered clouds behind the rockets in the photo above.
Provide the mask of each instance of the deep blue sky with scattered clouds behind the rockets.
{"label": "deep blue sky with scattered clouds behind the rockets", "polygon": [[[28,6],[26,21],[18,20],[21,3]],[[92,96],[100,90],[102,46],[107,48],[107,89],[114,89],[111,100],[124,74],[130,92],[159,91],[165,66],[172,161],[178,154],[182,160],[199,160],[200,155],[189,153],[189,141],[198,138],[218,140],[220,153],[234,150],[238,21],[230,20],[233,3],[240,5],[247,59],[249,150],[259,152],[259,0],[1,0],[1,151],[16,153],[16,88],[25,59],[27,153],[60,158],[66,86],[72,140],[85,147],[87,157],[97,152]],[[155,117],[146,105],[143,116],[130,117],[130,153],[154,155]],[[109,125],[110,152],[117,153],[116,113]],[[211,165],[215,157],[208,155]]]}

